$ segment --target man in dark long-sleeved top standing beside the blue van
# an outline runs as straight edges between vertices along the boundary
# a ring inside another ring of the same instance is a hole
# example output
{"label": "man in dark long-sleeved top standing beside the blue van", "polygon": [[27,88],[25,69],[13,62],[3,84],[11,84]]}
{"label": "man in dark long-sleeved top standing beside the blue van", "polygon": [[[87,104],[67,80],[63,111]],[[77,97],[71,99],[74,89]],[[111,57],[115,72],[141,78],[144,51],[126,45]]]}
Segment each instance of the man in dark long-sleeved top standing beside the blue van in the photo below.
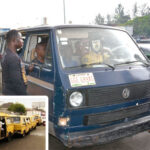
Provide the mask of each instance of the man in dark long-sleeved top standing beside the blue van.
{"label": "man in dark long-sleeved top standing beside the blue van", "polygon": [[21,33],[10,30],[6,35],[7,48],[2,58],[2,93],[26,95],[26,75],[17,49],[23,46]]}

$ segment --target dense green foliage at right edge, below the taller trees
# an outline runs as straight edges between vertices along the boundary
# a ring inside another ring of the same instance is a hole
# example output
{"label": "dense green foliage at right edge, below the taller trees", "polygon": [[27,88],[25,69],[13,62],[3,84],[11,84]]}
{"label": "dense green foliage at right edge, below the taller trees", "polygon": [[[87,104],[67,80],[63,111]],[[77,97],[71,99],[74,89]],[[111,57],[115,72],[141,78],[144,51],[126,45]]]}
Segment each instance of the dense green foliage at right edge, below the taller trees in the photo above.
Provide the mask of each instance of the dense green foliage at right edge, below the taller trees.
{"label": "dense green foliage at right edge, below the taller trees", "polygon": [[135,19],[128,21],[124,25],[133,25],[133,34],[135,36],[150,36],[150,15],[136,17]]}

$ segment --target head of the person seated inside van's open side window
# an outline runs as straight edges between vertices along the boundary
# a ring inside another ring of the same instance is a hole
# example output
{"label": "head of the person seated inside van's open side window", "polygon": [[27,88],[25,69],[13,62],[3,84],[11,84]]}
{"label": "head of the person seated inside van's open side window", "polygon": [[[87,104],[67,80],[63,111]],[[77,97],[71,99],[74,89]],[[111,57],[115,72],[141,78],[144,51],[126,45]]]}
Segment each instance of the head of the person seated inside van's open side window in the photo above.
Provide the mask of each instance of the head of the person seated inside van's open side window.
{"label": "head of the person seated inside van's open side window", "polygon": [[36,48],[35,48],[35,51],[37,53],[37,57],[41,57],[42,59],[45,58],[45,48],[46,48],[46,44],[42,44],[42,43],[39,43],[36,45]]}

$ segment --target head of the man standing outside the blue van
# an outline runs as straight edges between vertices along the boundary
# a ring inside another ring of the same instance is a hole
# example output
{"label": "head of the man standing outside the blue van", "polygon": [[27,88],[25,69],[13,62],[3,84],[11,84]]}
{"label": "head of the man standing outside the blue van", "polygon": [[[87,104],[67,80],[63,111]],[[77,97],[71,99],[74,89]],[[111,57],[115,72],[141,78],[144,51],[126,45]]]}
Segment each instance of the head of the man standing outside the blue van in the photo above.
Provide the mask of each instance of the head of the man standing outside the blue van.
{"label": "head of the man standing outside the blue van", "polygon": [[17,30],[10,30],[6,35],[7,45],[14,49],[19,49],[23,46],[22,35]]}

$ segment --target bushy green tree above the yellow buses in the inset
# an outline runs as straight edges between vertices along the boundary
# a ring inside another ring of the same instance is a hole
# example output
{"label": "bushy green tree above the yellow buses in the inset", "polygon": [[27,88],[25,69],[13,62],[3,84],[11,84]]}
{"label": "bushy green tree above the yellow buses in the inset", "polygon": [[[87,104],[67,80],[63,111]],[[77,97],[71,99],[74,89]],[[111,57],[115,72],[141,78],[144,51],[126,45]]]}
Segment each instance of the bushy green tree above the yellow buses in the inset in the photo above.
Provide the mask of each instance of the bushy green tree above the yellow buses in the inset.
{"label": "bushy green tree above the yellow buses in the inset", "polygon": [[20,114],[23,114],[26,112],[25,106],[20,103],[12,104],[8,107],[9,111],[18,112]]}

